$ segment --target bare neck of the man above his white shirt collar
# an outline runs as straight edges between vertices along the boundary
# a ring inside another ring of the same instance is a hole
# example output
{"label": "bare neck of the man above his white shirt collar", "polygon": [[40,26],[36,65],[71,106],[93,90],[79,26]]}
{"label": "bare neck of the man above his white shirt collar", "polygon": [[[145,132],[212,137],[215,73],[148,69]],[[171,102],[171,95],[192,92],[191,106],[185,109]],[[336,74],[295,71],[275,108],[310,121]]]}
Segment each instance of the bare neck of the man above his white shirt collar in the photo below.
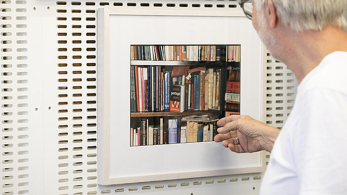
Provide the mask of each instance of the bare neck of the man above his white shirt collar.
{"label": "bare neck of the man above his white shirt collar", "polygon": [[325,56],[334,51],[347,52],[347,33],[342,28],[328,26],[322,31],[290,32],[283,41],[287,55],[281,60],[291,69],[298,82]]}

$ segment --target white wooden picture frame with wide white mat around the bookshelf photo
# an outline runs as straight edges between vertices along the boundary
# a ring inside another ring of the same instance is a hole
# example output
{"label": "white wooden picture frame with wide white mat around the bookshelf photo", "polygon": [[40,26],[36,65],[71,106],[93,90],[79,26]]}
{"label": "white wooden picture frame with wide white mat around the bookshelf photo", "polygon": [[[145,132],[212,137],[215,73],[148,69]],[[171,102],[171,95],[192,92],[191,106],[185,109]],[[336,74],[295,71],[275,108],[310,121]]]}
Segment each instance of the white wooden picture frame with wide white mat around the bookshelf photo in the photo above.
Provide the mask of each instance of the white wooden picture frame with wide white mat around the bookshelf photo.
{"label": "white wooden picture frame with wide white mat around the bookshelf photo", "polygon": [[261,41],[241,9],[98,10],[98,184],[255,173],[263,152],[221,143],[130,147],[130,46],[241,44],[241,114],[264,121]]}

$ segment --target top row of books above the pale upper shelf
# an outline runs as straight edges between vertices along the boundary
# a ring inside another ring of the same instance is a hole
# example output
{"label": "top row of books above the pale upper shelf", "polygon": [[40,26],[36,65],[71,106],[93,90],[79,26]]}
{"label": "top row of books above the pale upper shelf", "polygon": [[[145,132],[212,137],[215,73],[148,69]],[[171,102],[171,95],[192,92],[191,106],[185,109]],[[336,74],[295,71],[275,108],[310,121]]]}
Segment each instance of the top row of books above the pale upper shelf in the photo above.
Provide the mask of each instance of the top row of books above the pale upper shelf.
{"label": "top row of books above the pale upper shelf", "polygon": [[[234,46],[233,46],[234,47]],[[240,48],[240,46],[239,46]],[[140,45],[131,46],[131,60],[150,61],[224,61],[225,45]],[[230,48],[231,51],[232,48]],[[234,50],[234,48],[233,48]],[[235,45],[235,55],[239,49]],[[231,55],[232,53],[230,53]],[[234,53],[233,53],[234,55]],[[233,58],[234,59],[234,58]],[[226,62],[237,62],[226,61]]]}

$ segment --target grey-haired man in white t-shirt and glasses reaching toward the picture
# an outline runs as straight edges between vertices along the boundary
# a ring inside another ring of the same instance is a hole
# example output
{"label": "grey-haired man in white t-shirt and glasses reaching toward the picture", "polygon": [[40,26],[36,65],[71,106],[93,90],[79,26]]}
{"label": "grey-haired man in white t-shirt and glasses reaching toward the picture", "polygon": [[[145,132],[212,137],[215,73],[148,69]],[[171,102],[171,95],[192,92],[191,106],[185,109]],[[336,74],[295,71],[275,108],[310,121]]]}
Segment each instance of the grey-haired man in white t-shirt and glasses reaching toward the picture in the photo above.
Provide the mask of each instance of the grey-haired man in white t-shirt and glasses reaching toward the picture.
{"label": "grey-haired man in white t-shirt and glasses reaching toward the picture", "polygon": [[346,195],[347,0],[246,1],[262,41],[295,73],[296,100],[282,130],[228,116],[214,140],[237,153],[272,152],[261,195]]}

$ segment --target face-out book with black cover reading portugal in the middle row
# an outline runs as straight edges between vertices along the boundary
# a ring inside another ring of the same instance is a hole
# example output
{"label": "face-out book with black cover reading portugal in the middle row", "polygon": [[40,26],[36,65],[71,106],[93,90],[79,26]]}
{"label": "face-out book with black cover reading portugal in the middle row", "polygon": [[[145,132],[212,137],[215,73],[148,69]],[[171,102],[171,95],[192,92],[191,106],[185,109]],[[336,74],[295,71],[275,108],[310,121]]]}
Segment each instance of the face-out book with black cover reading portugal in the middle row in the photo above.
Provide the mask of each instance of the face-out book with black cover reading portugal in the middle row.
{"label": "face-out book with black cover reading portugal in the middle row", "polygon": [[170,94],[170,112],[183,112],[185,108],[185,86],[172,85]]}

